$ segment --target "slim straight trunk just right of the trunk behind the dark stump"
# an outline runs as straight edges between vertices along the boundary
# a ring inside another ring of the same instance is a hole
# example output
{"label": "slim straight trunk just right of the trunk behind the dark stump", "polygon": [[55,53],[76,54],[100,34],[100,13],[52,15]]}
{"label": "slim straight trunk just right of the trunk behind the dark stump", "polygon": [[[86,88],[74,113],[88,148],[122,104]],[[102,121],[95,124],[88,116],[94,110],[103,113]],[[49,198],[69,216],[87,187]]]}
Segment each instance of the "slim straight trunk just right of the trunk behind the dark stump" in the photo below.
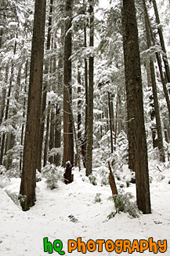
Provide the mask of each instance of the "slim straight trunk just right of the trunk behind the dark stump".
{"label": "slim straight trunk just right of the trunk behind the dark stump", "polygon": [[[94,46],[94,0],[89,0],[90,32],[89,46]],[[92,173],[92,134],[93,134],[93,73],[94,58],[89,57],[89,91],[88,91],[88,133],[87,133],[87,152],[86,152],[86,176]]]}

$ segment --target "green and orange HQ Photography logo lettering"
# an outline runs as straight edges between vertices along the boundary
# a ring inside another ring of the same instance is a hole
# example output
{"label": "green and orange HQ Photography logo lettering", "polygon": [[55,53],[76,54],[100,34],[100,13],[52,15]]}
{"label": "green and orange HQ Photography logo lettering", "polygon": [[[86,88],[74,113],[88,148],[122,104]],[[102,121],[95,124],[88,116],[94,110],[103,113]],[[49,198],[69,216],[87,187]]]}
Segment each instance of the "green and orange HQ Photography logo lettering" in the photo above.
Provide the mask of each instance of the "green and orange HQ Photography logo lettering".
{"label": "green and orange HQ Photography logo lettering", "polygon": [[[52,254],[57,252],[60,255],[64,255],[65,251],[63,250],[63,242],[59,239],[56,239],[51,243],[48,237],[43,239],[44,243],[44,252]],[[141,239],[136,240],[134,239],[132,242],[130,240],[104,240],[104,239],[97,239],[96,241],[89,239],[88,242],[81,241],[81,237],[78,237],[76,240],[68,240],[67,242],[67,252],[72,253],[74,250],[78,250],[78,252],[82,254],[86,254],[87,251],[89,252],[102,252],[103,249],[107,250],[108,252],[114,251],[117,254],[121,254],[122,252],[128,252],[128,254],[132,254],[133,252],[143,253],[145,250],[149,250],[154,254],[158,252],[165,253],[167,250],[167,240],[158,240],[154,242],[153,237],[149,239]]]}

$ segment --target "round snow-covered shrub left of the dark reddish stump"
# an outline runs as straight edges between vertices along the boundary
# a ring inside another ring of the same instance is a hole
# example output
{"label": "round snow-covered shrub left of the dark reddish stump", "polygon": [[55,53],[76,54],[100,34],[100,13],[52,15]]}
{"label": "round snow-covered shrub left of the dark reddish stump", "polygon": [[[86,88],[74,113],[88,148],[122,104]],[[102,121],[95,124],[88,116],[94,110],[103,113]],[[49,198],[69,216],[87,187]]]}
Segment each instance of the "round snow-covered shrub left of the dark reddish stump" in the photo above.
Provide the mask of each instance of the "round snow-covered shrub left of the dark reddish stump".
{"label": "round snow-covered shrub left of the dark reddish stump", "polygon": [[42,169],[42,176],[45,177],[47,188],[51,190],[58,187],[58,181],[63,181],[63,173],[56,168],[56,165],[45,165]]}

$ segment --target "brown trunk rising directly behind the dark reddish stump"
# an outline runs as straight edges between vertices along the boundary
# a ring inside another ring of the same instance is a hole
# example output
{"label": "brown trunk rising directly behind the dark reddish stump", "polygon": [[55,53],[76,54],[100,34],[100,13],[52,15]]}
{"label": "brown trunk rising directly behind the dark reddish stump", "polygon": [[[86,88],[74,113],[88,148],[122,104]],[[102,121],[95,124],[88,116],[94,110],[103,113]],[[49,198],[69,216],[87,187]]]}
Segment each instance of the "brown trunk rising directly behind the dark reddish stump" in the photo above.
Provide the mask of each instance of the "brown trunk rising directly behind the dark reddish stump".
{"label": "brown trunk rising directly behind the dark reddish stump", "polygon": [[71,118],[72,86],[71,86],[71,52],[72,52],[72,1],[65,0],[65,42],[63,61],[63,166],[70,161],[74,164],[74,134]]}

